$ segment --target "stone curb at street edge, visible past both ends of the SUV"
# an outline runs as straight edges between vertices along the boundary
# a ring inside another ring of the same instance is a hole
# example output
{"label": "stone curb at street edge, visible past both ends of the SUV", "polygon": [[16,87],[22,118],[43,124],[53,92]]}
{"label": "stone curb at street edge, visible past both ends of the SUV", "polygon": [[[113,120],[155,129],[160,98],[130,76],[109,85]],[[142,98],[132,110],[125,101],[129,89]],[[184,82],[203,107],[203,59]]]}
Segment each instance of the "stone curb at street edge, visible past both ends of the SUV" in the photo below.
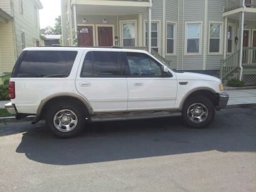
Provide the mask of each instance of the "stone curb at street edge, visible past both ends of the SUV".
{"label": "stone curb at street edge, visible past both ends of the SUV", "polygon": [[[234,104],[234,105],[227,105],[225,109],[232,109],[232,108],[250,108],[250,107],[256,107],[255,104]],[[0,123],[7,123],[7,122],[28,122],[35,120],[35,116],[28,116],[24,119],[16,120],[15,117],[0,117]]]}

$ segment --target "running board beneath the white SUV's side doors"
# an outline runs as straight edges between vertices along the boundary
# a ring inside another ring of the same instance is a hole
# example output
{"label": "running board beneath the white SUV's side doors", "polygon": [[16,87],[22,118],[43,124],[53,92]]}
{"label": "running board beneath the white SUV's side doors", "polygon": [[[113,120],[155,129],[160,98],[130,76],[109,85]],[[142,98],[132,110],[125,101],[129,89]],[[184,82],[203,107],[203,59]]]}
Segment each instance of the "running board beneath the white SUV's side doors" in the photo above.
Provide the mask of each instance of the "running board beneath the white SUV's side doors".
{"label": "running board beneath the white SUV's side doors", "polygon": [[100,121],[114,121],[114,120],[136,120],[136,119],[153,119],[159,117],[178,117],[181,116],[181,112],[164,111],[164,112],[132,112],[125,114],[99,114],[92,115],[90,119],[92,122]]}

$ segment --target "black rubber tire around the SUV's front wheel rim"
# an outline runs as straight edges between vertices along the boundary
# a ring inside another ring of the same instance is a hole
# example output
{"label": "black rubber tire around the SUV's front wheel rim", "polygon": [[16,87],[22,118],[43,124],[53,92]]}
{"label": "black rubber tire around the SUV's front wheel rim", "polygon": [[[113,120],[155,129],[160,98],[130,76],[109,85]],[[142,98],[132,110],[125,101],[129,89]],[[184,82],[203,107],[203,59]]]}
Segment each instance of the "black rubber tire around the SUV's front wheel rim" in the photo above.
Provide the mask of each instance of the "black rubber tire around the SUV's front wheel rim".
{"label": "black rubber tire around the SUV's front wheel rim", "polygon": [[[191,112],[190,109],[195,109],[196,107],[201,107],[200,110],[204,110],[205,112],[207,112],[207,115],[201,113],[202,115],[200,118],[203,117],[202,119],[204,119],[202,122],[199,122],[200,119],[198,119],[196,116],[195,118],[193,118],[194,114],[193,112]],[[213,105],[213,102],[211,102],[211,100],[208,99],[207,97],[194,96],[186,100],[186,102],[183,105],[182,114],[183,114],[183,122],[188,127],[203,129],[213,121],[215,117],[215,107]],[[198,122],[195,122],[195,121],[198,121]]]}

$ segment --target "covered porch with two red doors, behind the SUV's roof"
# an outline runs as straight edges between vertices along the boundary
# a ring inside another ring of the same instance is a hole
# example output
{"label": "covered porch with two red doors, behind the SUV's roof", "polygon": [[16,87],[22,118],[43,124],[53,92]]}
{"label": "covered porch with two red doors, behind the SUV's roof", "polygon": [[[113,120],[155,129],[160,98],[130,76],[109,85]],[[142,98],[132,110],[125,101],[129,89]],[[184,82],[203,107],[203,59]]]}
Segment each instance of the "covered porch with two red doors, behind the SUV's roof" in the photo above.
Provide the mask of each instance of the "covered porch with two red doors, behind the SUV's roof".
{"label": "covered porch with two red doors, behind the SUV's roof", "polygon": [[157,24],[147,25],[147,21],[151,23],[151,7],[149,0],[72,0],[70,37],[73,42],[70,40],[70,45],[146,46],[147,51],[153,48],[158,52],[158,42],[151,40],[151,35],[157,39],[159,34],[157,31],[147,33],[152,31],[151,27],[157,28]]}

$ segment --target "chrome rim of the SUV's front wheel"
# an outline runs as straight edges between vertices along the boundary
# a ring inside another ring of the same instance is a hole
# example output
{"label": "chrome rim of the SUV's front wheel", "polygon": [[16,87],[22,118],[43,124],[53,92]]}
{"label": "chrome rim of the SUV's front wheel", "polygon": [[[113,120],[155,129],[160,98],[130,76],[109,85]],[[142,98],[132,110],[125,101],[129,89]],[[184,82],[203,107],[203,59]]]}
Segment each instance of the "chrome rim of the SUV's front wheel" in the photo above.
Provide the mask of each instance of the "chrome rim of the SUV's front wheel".
{"label": "chrome rim of the SUV's front wheel", "polygon": [[208,109],[200,103],[192,104],[188,107],[187,115],[192,122],[201,123],[208,118]]}

